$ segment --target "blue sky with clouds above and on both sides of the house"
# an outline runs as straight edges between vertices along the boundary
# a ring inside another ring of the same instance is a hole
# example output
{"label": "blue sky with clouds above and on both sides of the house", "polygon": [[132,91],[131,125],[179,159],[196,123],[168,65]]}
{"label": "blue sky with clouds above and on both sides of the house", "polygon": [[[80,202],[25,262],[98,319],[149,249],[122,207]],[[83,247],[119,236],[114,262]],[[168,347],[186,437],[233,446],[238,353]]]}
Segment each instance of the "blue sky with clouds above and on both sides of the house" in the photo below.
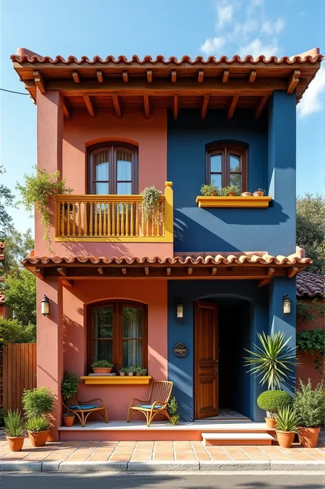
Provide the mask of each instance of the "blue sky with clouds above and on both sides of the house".
{"label": "blue sky with clouds above and on both sides of the house", "polygon": [[[312,5],[312,8],[310,8]],[[0,2],[0,86],[23,92],[9,57],[17,47],[40,55],[165,57],[325,53],[323,0],[10,0]],[[297,188],[325,188],[325,67],[298,105]],[[36,106],[27,96],[0,92],[0,164],[14,189],[36,163]],[[32,227],[23,209],[16,226]]]}

